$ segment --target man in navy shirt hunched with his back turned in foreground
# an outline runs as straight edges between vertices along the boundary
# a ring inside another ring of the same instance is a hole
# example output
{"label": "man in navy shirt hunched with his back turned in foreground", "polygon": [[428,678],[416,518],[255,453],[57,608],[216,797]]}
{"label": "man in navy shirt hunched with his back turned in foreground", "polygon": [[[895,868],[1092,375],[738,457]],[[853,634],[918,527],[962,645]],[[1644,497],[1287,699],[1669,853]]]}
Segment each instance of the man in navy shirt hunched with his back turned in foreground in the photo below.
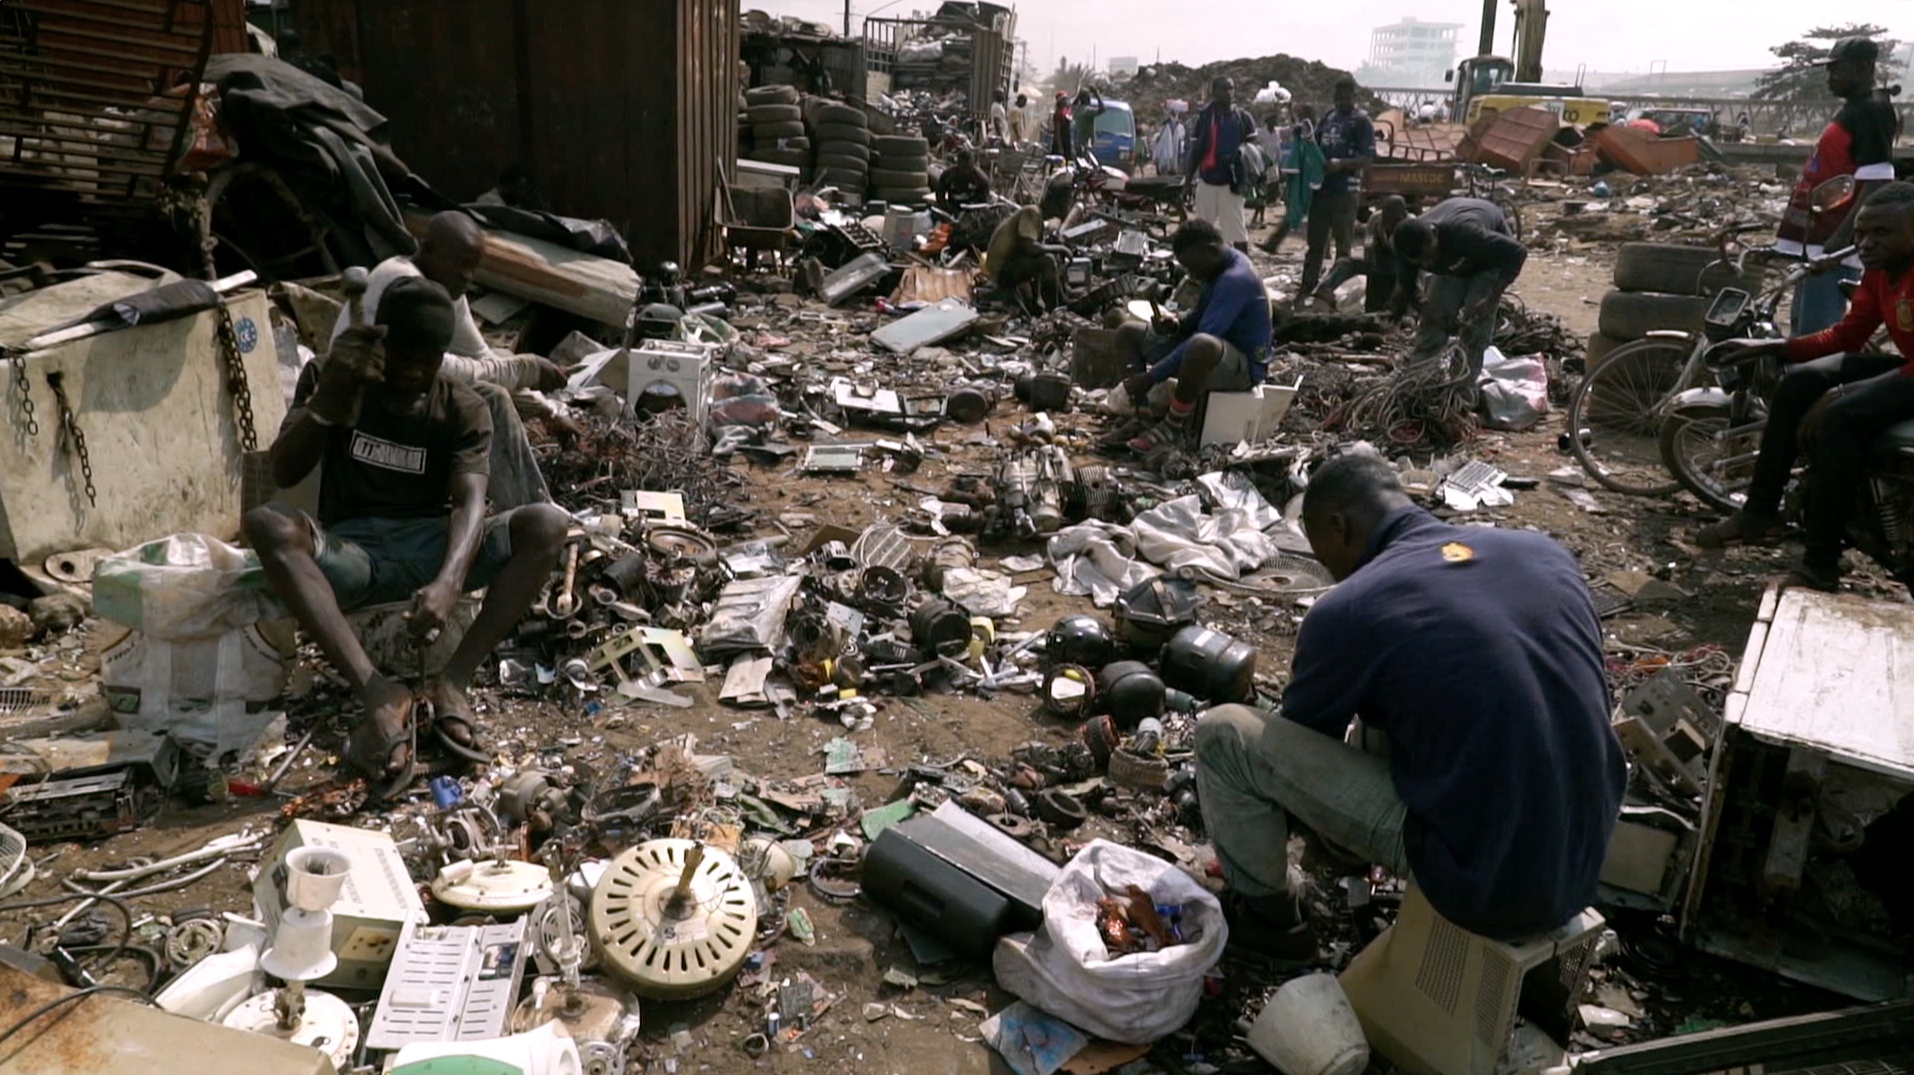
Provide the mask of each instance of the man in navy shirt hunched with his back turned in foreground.
{"label": "man in navy shirt hunched with his back turned in foreground", "polygon": [[[1413,876],[1472,933],[1568,922],[1594,899],[1627,782],[1575,557],[1437,520],[1372,453],[1319,467],[1302,522],[1338,585],[1303,620],[1282,712],[1221,706],[1196,725],[1231,943],[1315,956],[1290,817]],[[1344,744],[1355,717],[1386,756]]]}

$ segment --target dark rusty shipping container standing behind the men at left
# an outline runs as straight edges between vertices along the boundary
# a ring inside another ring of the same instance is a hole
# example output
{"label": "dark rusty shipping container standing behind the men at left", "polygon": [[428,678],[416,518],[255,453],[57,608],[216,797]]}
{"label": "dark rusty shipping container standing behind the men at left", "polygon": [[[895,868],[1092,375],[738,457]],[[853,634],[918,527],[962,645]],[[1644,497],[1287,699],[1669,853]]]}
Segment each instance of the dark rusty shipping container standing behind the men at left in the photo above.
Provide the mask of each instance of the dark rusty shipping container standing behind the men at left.
{"label": "dark rusty shipping container standing behind the men at left", "polygon": [[611,220],[639,266],[720,251],[720,170],[737,159],[737,0],[299,0],[390,121],[392,151],[471,201],[523,165],[551,210]]}

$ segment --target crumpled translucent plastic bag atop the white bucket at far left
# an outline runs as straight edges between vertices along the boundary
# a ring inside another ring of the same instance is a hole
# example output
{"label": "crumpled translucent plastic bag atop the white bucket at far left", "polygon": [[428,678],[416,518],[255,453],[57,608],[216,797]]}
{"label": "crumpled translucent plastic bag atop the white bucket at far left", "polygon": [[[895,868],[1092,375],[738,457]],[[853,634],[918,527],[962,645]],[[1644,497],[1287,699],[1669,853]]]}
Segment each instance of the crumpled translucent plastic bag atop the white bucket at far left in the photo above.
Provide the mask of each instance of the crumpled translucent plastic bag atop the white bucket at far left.
{"label": "crumpled translucent plastic bag atop the white bucket at far left", "polygon": [[214,639],[285,616],[258,557],[205,534],[174,534],[101,557],[94,608],[165,641]]}

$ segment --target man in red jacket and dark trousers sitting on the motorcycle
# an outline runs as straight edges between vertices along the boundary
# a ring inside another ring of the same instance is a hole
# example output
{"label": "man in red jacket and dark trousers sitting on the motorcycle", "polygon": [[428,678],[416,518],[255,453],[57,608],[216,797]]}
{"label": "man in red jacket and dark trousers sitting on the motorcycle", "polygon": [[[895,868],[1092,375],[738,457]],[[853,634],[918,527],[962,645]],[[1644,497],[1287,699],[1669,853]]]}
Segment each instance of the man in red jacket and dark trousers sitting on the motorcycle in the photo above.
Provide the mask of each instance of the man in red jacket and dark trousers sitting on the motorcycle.
{"label": "man in red jacket and dark trousers sitting on the motorcycle", "polygon": [[[1805,553],[1792,583],[1834,591],[1841,583],[1841,536],[1860,492],[1862,467],[1883,428],[1914,419],[1914,184],[1891,182],[1855,214],[1855,243],[1866,270],[1832,329],[1788,340],[1734,340],[1732,358],[1774,356],[1793,369],[1774,390],[1761,455],[1742,511],[1703,528],[1703,547],[1772,543],[1780,538],[1782,492],[1803,434],[1814,440]],[[1874,331],[1901,354],[1862,354]]]}

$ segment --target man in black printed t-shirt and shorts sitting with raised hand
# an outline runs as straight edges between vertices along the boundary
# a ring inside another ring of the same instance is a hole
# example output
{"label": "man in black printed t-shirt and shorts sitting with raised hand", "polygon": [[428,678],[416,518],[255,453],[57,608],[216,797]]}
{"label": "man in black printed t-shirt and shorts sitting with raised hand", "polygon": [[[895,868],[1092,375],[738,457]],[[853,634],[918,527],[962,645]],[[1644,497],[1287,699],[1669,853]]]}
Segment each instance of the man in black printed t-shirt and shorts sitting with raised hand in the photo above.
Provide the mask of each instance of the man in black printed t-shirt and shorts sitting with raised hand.
{"label": "man in black printed t-shirt and shorts sitting with raised hand", "polygon": [[530,608],[570,524],[549,503],[486,516],[492,417],[471,388],[438,375],[452,323],[446,289],[394,281],[375,325],[346,329],[323,367],[306,367],[272,444],[279,488],[323,461],[320,518],[278,503],[245,516],[266,581],[366,704],[346,757],[375,798],[415,775],[415,696],[373,668],[345,612],[410,601],[423,645],[461,593],[486,589],[442,675],[423,685],[438,740],[486,761],[465,689]]}

